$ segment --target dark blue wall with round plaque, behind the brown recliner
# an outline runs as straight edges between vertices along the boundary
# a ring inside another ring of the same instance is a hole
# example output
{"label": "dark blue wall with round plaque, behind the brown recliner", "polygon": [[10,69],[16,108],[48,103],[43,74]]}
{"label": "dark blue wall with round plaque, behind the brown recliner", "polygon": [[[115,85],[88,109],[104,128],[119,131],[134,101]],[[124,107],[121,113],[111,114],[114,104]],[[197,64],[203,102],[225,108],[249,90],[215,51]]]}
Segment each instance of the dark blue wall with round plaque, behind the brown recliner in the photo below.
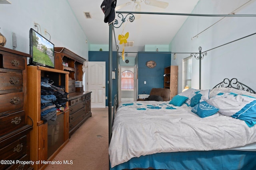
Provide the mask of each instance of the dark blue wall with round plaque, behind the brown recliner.
{"label": "dark blue wall with round plaque, behind the brown recliner", "polygon": [[[146,62],[150,60],[156,62],[154,68],[146,66]],[[149,94],[152,88],[164,88],[164,68],[170,65],[170,53],[138,52],[138,94],[144,91]]]}

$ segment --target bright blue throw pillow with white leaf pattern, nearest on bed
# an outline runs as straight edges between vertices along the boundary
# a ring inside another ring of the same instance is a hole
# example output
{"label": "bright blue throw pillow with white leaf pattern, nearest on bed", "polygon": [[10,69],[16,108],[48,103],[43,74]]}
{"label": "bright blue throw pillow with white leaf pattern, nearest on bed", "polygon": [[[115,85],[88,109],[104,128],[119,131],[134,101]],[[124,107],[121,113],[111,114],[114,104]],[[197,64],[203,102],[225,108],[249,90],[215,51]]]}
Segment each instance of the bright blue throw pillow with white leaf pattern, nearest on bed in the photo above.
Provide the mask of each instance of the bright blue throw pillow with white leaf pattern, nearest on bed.
{"label": "bright blue throw pillow with white leaf pattern, nearest on bed", "polygon": [[199,117],[204,118],[217,113],[219,109],[203,101],[192,108],[192,112],[196,113]]}

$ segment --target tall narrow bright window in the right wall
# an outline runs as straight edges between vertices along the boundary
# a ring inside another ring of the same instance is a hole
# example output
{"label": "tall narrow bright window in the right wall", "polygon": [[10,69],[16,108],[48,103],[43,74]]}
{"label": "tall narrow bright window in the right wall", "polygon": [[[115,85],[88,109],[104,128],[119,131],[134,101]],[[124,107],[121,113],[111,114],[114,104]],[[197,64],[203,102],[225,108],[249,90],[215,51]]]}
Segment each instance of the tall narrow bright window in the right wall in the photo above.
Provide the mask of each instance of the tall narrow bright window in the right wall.
{"label": "tall narrow bright window in the right wall", "polygon": [[191,73],[192,73],[192,57],[187,57],[182,61],[183,75],[182,75],[182,89],[184,86],[191,88]]}

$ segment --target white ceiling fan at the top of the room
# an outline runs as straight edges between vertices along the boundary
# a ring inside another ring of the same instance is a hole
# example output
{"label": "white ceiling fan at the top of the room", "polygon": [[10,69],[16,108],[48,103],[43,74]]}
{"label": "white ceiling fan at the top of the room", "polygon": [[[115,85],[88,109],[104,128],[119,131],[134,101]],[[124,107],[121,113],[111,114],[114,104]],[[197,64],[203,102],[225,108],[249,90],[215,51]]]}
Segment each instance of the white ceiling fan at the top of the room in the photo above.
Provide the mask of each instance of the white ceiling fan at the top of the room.
{"label": "white ceiling fan at the top of the room", "polygon": [[166,8],[169,5],[168,2],[162,2],[162,1],[159,1],[159,0],[131,0],[131,2],[127,2],[125,4],[117,6],[115,9],[120,10],[121,8],[124,8],[125,6],[128,6],[128,5],[132,4],[132,2],[135,5],[135,11],[136,12],[140,12],[140,10],[141,10],[140,3],[141,2],[144,2],[146,5],[155,6],[155,7],[158,7],[158,8]]}

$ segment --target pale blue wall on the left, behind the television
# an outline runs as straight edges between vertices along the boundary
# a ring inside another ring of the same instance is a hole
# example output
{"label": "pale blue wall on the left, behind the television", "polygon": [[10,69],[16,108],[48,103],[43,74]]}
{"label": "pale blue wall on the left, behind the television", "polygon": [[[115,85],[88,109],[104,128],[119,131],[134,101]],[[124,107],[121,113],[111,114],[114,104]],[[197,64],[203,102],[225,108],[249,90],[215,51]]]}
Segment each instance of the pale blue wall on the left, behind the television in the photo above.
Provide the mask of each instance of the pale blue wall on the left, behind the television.
{"label": "pale blue wall on the left, behind the television", "polygon": [[[29,53],[29,29],[38,23],[38,32],[51,35],[55,47],[66,47],[88,59],[86,35],[76,20],[67,0],[11,0],[0,4],[0,32],[6,37],[6,48],[12,49],[12,32],[17,37],[17,51]],[[37,28],[34,28],[37,31]]]}

